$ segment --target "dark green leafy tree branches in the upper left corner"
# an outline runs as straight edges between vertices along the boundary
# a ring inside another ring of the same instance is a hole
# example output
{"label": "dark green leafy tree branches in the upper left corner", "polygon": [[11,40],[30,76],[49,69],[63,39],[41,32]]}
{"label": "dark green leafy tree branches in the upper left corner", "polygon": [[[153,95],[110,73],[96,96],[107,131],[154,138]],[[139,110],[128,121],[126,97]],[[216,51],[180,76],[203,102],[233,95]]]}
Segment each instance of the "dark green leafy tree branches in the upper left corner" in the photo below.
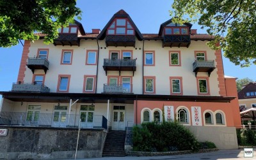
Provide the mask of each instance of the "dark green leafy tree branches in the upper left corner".
{"label": "dark green leafy tree branches in the upper left corner", "polygon": [[52,43],[58,29],[79,15],[76,0],[0,0],[0,47],[38,40],[35,32],[46,34],[45,43]]}

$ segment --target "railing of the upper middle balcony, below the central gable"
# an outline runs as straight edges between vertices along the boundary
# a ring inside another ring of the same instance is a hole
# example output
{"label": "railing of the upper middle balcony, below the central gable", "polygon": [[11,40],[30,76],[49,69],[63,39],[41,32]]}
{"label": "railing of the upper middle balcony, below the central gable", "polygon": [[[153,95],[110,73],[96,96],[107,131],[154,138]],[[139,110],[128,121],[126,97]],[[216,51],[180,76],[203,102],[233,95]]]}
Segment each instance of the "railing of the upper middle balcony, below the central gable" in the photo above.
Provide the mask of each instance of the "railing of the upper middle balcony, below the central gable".
{"label": "railing of the upper middle balcony, below the central gable", "polygon": [[104,66],[136,67],[136,59],[104,59]]}

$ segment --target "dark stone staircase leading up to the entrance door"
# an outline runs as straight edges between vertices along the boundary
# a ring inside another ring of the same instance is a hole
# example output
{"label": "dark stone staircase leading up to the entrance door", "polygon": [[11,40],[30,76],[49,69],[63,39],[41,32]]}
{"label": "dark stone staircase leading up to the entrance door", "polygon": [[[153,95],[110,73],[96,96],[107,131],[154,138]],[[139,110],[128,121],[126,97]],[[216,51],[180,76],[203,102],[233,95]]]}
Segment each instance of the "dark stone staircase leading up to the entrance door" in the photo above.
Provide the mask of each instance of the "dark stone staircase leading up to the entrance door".
{"label": "dark stone staircase leading up to the entrance door", "polygon": [[126,131],[109,131],[102,151],[102,157],[125,156],[125,135]]}

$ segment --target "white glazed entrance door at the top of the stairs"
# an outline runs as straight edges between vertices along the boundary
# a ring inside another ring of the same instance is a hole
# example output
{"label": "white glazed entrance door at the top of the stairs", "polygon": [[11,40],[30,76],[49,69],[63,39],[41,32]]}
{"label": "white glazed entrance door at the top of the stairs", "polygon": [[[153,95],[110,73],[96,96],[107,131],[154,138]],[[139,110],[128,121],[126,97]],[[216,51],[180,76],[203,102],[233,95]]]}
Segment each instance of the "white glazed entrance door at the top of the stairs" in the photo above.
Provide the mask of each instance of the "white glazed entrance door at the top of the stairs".
{"label": "white glazed entrance door at the top of the stairs", "polygon": [[125,129],[125,106],[113,106],[113,130]]}

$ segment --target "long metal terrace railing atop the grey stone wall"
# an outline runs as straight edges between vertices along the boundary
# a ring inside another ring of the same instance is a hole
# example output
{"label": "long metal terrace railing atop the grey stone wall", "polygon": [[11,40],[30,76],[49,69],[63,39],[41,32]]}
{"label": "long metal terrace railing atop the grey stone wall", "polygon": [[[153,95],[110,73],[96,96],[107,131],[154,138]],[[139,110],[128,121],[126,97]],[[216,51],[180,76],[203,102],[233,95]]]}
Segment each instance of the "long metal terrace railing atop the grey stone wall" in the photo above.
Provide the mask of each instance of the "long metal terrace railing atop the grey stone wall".
{"label": "long metal terrace railing atop the grey stone wall", "polygon": [[103,115],[68,115],[66,112],[0,112],[0,126],[35,127],[80,127],[107,129],[107,119]]}

